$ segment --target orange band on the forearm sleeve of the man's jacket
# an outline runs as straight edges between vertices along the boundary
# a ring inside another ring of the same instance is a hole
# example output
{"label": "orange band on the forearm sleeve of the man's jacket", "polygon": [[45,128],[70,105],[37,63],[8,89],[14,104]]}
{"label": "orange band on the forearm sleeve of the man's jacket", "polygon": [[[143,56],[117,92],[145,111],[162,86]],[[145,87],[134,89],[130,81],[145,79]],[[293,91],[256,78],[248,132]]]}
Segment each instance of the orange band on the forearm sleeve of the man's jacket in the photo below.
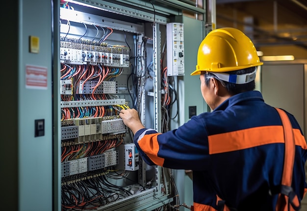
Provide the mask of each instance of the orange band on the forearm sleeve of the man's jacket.
{"label": "orange band on the forearm sleeve of the man's jacket", "polygon": [[164,158],[158,157],[159,144],[157,136],[158,133],[146,134],[138,141],[138,144],[142,151],[154,162],[154,164],[163,166]]}

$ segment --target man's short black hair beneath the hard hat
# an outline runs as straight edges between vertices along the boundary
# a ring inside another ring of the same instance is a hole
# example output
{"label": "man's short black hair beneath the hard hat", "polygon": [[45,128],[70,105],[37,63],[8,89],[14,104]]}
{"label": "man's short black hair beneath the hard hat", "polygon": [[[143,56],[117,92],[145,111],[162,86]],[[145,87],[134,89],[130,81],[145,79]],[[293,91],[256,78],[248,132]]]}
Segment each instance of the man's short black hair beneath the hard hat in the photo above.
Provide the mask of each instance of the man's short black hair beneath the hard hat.
{"label": "man's short black hair beneath the hard hat", "polygon": [[[242,70],[234,70],[230,72],[226,72],[227,74],[233,74],[233,75],[242,75],[242,74],[247,74],[247,73],[252,73],[253,71],[256,70],[257,67],[249,67],[245,68]],[[209,85],[209,80],[210,78],[215,78],[217,77],[213,75],[212,73],[208,72],[205,74],[205,83],[208,86]],[[244,83],[244,84],[236,84],[236,83],[230,83],[225,80],[218,79],[223,86],[228,90],[228,92],[231,95],[236,95],[241,92],[246,92],[246,91],[253,91],[255,89],[255,80],[252,80],[251,82]]]}

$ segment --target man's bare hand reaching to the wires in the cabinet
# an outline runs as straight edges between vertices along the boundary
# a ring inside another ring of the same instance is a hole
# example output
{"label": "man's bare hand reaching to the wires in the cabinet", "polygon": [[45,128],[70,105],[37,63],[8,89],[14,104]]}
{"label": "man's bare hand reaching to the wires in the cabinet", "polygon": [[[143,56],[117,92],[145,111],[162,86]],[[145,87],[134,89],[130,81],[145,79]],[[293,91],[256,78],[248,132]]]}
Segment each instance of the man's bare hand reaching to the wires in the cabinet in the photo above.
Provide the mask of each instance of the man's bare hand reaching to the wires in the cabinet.
{"label": "man's bare hand reaching to the wires in the cabinet", "polygon": [[134,108],[122,109],[119,116],[123,119],[124,124],[130,128],[133,134],[140,129],[145,128],[140,120],[138,112]]}

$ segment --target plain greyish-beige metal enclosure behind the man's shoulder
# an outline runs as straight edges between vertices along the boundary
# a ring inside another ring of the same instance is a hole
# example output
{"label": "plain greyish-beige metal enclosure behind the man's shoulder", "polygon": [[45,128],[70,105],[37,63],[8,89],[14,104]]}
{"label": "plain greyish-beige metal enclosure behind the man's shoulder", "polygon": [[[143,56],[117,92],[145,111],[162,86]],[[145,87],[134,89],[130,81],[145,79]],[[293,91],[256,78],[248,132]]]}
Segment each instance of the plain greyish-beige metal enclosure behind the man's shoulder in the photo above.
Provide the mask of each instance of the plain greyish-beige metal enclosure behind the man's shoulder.
{"label": "plain greyish-beige metal enclosure behind the man's shoulder", "polygon": [[307,132],[307,61],[265,62],[261,67],[264,101],[292,113],[304,134]]}

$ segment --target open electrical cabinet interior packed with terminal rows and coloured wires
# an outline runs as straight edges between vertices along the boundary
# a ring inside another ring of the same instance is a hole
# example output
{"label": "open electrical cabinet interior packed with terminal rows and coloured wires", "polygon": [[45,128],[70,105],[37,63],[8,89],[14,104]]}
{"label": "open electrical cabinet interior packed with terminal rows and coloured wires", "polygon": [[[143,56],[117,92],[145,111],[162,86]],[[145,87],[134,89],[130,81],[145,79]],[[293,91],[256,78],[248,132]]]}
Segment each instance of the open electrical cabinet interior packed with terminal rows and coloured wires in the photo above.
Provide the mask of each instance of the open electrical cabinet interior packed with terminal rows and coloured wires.
{"label": "open electrical cabinet interior packed with terminal rows and coloured wires", "polygon": [[96,7],[83,10],[83,5],[69,1],[60,8],[61,207],[166,208],[173,198],[166,191],[169,183],[162,169],[147,172],[119,116],[121,109],[135,108],[143,111],[144,120],[145,109],[151,108],[145,89],[157,55],[154,35],[145,35],[144,23],[117,20]]}

